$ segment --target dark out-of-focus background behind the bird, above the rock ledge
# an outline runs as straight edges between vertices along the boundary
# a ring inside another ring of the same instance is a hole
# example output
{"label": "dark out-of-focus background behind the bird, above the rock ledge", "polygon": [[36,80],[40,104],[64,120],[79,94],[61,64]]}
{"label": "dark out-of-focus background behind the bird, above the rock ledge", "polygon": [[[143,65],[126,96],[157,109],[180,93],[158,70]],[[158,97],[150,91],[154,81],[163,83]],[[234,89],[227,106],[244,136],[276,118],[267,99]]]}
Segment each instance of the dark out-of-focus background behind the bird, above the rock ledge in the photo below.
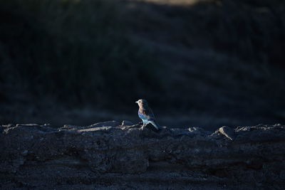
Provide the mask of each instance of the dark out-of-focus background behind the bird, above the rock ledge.
{"label": "dark out-of-focus background behind the bird, above the rock ledge", "polygon": [[0,0],[0,122],[285,122],[283,0]]}

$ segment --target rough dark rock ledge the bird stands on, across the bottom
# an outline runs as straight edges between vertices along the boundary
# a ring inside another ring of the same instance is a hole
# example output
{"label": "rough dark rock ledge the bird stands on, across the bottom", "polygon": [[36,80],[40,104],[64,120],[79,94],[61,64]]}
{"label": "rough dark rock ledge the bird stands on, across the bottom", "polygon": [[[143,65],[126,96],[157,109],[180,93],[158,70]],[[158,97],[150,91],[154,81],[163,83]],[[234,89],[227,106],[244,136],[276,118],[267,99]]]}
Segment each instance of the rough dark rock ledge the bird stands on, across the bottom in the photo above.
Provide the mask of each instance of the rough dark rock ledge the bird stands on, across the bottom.
{"label": "rough dark rock ledge the bird stands on, across the bottom", "polygon": [[285,186],[284,125],[212,133],[197,127],[153,132],[128,123],[0,125],[0,189]]}

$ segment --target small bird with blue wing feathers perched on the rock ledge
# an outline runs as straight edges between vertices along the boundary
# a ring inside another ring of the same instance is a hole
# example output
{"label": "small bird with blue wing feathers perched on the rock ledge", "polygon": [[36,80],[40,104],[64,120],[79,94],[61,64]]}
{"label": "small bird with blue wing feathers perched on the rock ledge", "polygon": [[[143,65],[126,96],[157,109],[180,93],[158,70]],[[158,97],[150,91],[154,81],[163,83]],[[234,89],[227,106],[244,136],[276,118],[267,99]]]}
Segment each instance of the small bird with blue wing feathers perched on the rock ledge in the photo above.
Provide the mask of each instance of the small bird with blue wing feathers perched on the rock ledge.
{"label": "small bird with blue wing feathers perched on the rock ledge", "polygon": [[148,123],[151,123],[156,130],[160,130],[160,125],[155,122],[155,115],[153,115],[152,110],[148,106],[147,100],[140,99],[136,101],[136,103],[140,107],[138,109],[138,117],[140,117],[143,122],[142,128]]}

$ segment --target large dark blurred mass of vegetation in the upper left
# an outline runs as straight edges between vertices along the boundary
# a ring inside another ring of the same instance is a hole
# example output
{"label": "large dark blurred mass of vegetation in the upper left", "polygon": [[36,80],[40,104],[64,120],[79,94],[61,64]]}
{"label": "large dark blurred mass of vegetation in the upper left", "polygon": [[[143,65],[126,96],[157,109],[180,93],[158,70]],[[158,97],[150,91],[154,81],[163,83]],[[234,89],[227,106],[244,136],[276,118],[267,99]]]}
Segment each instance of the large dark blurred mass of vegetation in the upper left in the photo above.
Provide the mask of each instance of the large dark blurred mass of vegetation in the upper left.
{"label": "large dark blurred mass of vegetation in the upper left", "polygon": [[[10,80],[4,83],[105,105],[113,93],[123,103],[157,81],[153,53],[130,41],[114,1],[1,0],[0,14],[1,81]],[[128,97],[125,88],[133,89]]]}

